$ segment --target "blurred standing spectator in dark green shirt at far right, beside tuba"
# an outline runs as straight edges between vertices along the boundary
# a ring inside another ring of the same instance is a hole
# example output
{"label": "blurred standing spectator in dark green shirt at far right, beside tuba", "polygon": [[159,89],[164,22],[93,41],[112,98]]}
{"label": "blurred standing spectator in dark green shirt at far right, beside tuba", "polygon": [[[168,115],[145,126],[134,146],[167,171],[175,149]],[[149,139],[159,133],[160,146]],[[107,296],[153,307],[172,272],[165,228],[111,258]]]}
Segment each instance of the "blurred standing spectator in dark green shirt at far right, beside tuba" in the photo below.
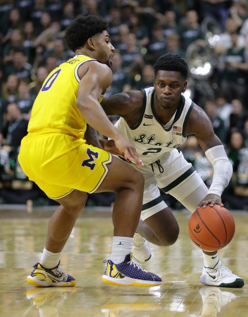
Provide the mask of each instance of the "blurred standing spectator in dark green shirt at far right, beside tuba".
{"label": "blurred standing spectator in dark green shirt at far right, beside tuba", "polygon": [[222,89],[230,102],[239,98],[242,101],[247,94],[248,56],[245,49],[238,46],[238,34],[231,35],[232,47],[224,55]]}

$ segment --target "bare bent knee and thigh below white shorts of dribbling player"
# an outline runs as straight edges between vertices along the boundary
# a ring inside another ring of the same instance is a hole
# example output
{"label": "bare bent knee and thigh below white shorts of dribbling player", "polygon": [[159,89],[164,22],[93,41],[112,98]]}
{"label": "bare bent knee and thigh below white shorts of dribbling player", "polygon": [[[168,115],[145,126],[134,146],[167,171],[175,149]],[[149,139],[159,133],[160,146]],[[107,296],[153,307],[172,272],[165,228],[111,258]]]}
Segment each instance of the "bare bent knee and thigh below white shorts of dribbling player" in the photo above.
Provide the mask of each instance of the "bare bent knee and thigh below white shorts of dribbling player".
{"label": "bare bent knee and thigh below white shorts of dribbling player", "polygon": [[146,218],[144,222],[153,231],[162,245],[171,245],[179,235],[179,226],[169,207]]}

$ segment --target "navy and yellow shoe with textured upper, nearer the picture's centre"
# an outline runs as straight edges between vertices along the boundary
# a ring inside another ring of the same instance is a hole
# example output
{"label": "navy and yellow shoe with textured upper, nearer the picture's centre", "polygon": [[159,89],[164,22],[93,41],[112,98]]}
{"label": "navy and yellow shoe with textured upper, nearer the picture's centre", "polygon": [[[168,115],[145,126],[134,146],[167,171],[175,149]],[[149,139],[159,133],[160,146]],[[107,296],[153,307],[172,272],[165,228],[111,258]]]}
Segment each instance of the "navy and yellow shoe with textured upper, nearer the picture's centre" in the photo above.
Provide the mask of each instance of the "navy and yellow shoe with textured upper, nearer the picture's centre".
{"label": "navy and yellow shoe with textured upper, nearer the picture's centre", "polygon": [[116,286],[158,286],[162,280],[158,275],[147,272],[137,263],[131,261],[131,255],[125,257],[124,262],[114,264],[111,260],[106,261],[107,268],[102,280]]}

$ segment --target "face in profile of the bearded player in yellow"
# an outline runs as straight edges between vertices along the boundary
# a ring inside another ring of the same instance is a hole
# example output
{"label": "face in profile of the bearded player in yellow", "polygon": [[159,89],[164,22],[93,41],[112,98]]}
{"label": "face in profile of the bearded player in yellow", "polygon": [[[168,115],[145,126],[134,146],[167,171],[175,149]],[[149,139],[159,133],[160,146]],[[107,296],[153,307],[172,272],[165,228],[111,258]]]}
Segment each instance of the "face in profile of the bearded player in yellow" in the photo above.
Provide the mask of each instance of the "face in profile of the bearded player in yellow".
{"label": "face in profile of the bearded player in yellow", "polygon": [[96,45],[96,52],[99,56],[97,59],[112,69],[113,61],[111,58],[114,55],[115,48],[110,43],[110,37],[106,30],[98,35]]}

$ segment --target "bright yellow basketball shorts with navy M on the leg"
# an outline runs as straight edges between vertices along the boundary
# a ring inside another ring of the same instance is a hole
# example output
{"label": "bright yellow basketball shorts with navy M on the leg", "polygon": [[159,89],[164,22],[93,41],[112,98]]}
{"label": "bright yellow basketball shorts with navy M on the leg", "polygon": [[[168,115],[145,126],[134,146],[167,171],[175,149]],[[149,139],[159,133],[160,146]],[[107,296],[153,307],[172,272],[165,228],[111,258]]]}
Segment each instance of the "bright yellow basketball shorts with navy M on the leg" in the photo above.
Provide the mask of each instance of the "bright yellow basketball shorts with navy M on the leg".
{"label": "bright yellow basketball shorts with navy M on the leg", "polygon": [[93,193],[108,173],[110,153],[62,133],[29,133],[22,139],[19,163],[45,194],[59,199],[74,189]]}

